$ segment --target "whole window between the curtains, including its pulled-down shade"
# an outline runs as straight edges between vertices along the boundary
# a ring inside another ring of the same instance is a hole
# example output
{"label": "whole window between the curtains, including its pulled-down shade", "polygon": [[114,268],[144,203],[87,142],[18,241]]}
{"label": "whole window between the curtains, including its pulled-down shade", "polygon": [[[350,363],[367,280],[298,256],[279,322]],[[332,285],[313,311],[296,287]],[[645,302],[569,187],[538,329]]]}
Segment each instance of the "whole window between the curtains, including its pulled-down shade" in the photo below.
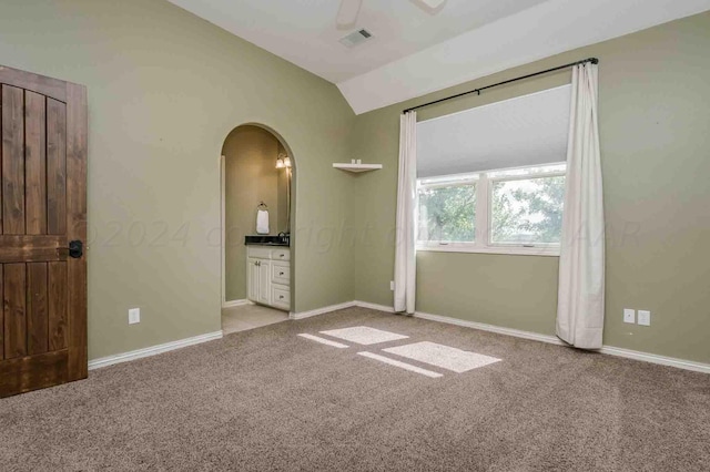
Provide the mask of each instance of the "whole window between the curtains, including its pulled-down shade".
{"label": "whole window between the curtains, including its pulled-down shade", "polygon": [[417,247],[559,255],[569,85],[417,123]]}

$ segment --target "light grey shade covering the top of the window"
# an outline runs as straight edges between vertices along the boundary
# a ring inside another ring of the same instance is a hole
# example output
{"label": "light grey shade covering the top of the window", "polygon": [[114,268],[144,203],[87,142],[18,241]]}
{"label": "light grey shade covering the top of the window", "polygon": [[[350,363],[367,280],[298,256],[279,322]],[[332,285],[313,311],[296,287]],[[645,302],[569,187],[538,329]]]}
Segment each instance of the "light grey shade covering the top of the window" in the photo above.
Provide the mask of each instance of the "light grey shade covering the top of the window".
{"label": "light grey shade covering the top of the window", "polygon": [[571,85],[417,123],[417,176],[567,160]]}

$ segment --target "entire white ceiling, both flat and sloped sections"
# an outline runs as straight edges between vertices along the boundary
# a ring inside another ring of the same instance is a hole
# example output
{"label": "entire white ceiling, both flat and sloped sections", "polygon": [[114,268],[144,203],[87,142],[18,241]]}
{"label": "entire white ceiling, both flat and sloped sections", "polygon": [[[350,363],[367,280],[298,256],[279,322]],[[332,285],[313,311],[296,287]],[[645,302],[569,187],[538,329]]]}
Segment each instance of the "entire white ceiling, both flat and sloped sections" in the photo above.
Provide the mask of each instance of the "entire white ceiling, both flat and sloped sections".
{"label": "entire white ceiling, both flat and sloped sections", "polygon": [[[355,27],[338,30],[339,0],[169,1],[337,84],[358,114],[710,10],[710,0],[447,0],[432,16],[422,0],[363,0]],[[358,28],[374,38],[338,42]]]}

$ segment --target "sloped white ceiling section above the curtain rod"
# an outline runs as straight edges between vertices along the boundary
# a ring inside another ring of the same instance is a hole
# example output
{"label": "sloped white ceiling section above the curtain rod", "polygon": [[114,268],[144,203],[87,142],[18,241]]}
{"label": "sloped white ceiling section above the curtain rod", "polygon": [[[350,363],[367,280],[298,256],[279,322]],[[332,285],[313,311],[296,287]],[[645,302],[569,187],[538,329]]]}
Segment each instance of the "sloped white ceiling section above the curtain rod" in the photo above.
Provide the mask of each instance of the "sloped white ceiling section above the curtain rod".
{"label": "sloped white ceiling section above the curtain rod", "polygon": [[706,10],[710,0],[548,0],[337,86],[365,113]]}

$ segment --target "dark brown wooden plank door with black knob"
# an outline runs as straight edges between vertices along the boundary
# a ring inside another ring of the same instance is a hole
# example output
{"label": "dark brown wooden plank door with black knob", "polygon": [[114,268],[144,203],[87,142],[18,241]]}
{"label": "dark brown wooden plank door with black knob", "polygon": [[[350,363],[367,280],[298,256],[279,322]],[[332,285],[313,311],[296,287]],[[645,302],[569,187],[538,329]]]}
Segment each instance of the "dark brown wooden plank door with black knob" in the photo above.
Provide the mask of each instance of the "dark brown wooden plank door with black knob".
{"label": "dark brown wooden plank door with black knob", "polygon": [[87,377],[87,92],[4,66],[0,89],[0,397],[8,397]]}

